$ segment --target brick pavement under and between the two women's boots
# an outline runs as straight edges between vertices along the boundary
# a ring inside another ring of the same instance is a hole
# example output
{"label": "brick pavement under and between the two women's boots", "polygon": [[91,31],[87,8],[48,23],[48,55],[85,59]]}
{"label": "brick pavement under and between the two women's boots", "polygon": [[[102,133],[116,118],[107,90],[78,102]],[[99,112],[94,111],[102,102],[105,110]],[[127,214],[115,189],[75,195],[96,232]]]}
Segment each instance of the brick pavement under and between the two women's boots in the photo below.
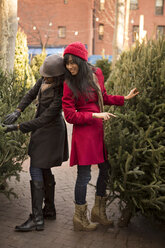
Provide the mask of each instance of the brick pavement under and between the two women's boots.
{"label": "brick pavement under and between the two women's boots", "polygon": [[[72,126],[68,127],[69,144]],[[143,216],[135,216],[127,228],[118,228],[120,216],[118,202],[107,208],[107,216],[114,220],[114,228],[99,226],[93,232],[73,230],[74,184],[76,166],[70,168],[69,161],[53,168],[56,179],[56,220],[45,220],[44,231],[19,233],[16,225],[22,224],[31,212],[29,185],[29,159],[22,165],[20,182],[12,178],[9,182],[18,198],[9,200],[0,194],[0,248],[165,248],[165,228]],[[88,185],[87,202],[90,210],[94,203],[95,184],[98,175],[96,165],[92,166],[92,179]]]}

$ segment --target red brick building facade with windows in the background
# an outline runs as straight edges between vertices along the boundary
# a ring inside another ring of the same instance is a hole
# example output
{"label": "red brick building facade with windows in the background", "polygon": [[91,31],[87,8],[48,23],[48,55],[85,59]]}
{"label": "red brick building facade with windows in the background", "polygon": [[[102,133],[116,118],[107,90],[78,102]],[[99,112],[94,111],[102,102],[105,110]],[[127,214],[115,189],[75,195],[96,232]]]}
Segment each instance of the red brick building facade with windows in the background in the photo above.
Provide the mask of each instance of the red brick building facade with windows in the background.
{"label": "red brick building facade with windows in the background", "polygon": [[[129,45],[139,32],[141,15],[148,38],[165,33],[164,0],[131,0]],[[59,53],[67,44],[81,41],[89,56],[112,55],[114,17],[115,0],[18,0],[19,26],[29,47],[46,46]]]}

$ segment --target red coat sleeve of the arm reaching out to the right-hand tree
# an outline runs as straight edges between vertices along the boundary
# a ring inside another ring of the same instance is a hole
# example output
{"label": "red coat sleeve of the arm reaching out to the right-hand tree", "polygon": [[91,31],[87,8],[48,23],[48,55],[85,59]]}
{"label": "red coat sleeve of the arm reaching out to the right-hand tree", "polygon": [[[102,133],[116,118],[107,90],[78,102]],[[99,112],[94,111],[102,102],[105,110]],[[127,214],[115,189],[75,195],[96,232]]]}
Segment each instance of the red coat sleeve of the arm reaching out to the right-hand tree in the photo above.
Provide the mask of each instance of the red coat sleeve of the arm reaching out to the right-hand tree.
{"label": "red coat sleeve of the arm reaching out to the right-hand tree", "polygon": [[97,69],[96,76],[101,86],[104,105],[118,105],[118,106],[124,105],[124,96],[107,94],[107,91],[104,87],[104,76],[100,68]]}

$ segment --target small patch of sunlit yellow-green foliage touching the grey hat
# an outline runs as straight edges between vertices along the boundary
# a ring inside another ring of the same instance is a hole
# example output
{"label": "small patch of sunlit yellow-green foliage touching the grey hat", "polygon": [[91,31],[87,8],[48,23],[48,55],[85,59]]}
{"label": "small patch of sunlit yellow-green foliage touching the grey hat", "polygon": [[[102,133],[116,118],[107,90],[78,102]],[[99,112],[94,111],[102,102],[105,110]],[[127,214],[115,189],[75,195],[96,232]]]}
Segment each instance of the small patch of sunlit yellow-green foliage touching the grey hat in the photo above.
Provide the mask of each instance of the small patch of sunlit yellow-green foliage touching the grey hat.
{"label": "small patch of sunlit yellow-green foliage touching the grey hat", "polygon": [[43,64],[45,58],[46,58],[46,50],[43,49],[41,54],[37,54],[31,60],[30,65],[36,81],[41,77],[39,69]]}

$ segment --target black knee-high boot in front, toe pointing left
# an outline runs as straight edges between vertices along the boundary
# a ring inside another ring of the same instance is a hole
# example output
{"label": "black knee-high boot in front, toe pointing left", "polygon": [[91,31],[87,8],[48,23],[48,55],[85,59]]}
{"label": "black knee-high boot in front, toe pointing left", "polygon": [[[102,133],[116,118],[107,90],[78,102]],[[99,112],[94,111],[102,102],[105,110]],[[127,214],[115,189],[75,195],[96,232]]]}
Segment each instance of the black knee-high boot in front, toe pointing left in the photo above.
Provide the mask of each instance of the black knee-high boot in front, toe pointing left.
{"label": "black knee-high boot in front, toe pointing left", "polygon": [[29,219],[20,226],[15,227],[15,231],[28,232],[32,230],[44,230],[44,218],[42,204],[44,197],[44,184],[40,181],[30,181],[32,214]]}

